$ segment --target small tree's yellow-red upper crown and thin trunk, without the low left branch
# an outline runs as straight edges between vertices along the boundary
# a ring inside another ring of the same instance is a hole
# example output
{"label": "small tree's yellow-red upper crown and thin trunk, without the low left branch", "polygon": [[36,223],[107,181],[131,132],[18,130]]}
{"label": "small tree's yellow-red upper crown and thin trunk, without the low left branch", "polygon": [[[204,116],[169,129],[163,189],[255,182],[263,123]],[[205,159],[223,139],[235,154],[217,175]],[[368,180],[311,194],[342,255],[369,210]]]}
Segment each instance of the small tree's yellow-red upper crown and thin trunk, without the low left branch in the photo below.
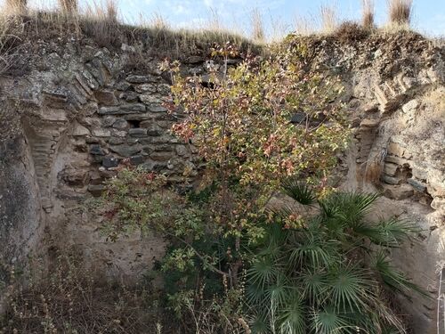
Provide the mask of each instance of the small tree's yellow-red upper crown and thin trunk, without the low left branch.
{"label": "small tree's yellow-red upper crown and thin trunk, without the low left branch", "polygon": [[[316,183],[336,166],[336,151],[349,132],[339,110],[328,105],[341,91],[336,77],[311,69],[305,45],[289,37],[266,61],[247,56],[236,68],[231,45],[214,50],[223,72],[208,80],[174,73],[174,103],[187,118],[174,133],[198,147],[206,161],[201,186],[215,184],[211,219],[223,235],[234,237],[228,273],[236,286],[243,261],[243,235],[262,234],[256,218],[288,175],[304,175]],[[296,125],[291,124],[297,116]]]}

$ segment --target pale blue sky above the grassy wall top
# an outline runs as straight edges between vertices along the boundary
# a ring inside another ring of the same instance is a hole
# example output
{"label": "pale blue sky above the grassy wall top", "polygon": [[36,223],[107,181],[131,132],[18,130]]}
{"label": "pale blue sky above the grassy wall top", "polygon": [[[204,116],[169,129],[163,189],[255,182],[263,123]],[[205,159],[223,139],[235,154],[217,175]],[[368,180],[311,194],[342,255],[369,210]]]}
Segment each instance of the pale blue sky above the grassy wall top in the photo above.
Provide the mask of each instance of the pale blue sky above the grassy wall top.
{"label": "pale blue sky above the grassy wall top", "polygon": [[[30,0],[31,4],[54,0]],[[80,0],[92,3],[93,0]],[[96,0],[101,1],[101,0]],[[253,8],[263,14],[270,34],[295,27],[295,18],[314,21],[322,4],[334,5],[341,19],[360,20],[361,0],[117,0],[121,16],[137,22],[141,15],[150,20],[154,13],[162,15],[174,27],[199,27],[213,20],[217,13],[223,26],[248,31]],[[375,0],[376,21],[386,20],[387,0]],[[430,36],[445,36],[445,0],[414,0],[413,26]],[[274,29],[272,29],[274,27]],[[276,30],[276,31],[272,31]]]}

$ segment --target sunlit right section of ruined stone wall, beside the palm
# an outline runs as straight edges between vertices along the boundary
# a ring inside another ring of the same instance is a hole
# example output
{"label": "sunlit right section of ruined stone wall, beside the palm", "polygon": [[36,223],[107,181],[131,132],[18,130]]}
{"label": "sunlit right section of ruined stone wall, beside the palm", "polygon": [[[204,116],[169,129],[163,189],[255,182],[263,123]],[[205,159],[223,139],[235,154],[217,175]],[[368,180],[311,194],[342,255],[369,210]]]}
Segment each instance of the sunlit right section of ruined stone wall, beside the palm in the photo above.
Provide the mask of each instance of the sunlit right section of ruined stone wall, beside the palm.
{"label": "sunlit right section of ruined stone wall, beside the palm", "polygon": [[371,219],[397,216],[421,230],[392,258],[431,295],[400,297],[407,320],[415,333],[435,333],[445,260],[445,49],[411,33],[318,43],[317,62],[343,78],[352,120],[338,184],[382,193]]}

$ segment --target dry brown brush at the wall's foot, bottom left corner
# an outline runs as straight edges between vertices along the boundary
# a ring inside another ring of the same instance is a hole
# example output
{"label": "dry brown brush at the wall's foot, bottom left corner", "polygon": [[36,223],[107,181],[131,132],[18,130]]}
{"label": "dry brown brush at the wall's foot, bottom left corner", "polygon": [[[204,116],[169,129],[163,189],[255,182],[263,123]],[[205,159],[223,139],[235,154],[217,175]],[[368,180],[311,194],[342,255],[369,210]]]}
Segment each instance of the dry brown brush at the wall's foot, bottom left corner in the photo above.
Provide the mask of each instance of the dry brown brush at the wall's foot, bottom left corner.
{"label": "dry brown brush at the wall's foot, bottom left corner", "polygon": [[58,255],[45,273],[39,265],[10,287],[0,333],[155,333],[162,322],[152,291],[98,281],[72,255]]}

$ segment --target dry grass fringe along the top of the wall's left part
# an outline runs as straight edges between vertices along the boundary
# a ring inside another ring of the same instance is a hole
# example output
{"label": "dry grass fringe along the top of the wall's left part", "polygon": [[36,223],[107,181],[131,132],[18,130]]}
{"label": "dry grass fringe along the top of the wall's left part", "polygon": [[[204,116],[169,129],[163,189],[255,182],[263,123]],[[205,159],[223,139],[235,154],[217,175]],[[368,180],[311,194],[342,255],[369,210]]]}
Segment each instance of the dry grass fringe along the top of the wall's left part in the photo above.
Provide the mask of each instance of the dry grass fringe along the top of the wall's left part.
{"label": "dry grass fringe along the top of the wall's left part", "polygon": [[[81,12],[31,11],[27,15],[11,17],[0,15],[5,24],[0,26],[0,53],[10,48],[13,39],[19,45],[31,45],[36,39],[59,40],[61,43],[69,40],[84,40],[86,44],[107,47],[116,50],[122,46],[135,45],[137,52],[147,53],[155,57],[186,58],[191,54],[206,55],[214,45],[230,42],[241,53],[254,50],[262,53],[263,45],[240,34],[234,34],[222,27],[216,12],[202,29],[171,29],[162,16],[154,16],[148,25],[126,25],[119,22],[116,0],[98,0],[87,4]],[[61,8],[77,4],[73,0],[60,0]],[[10,38],[10,37],[14,38]],[[8,38],[6,38],[8,37]],[[8,46],[4,46],[8,40]],[[16,46],[16,45],[14,45]],[[32,53],[31,53],[32,54]],[[9,65],[7,66],[9,68]],[[0,70],[4,64],[0,64]]]}

